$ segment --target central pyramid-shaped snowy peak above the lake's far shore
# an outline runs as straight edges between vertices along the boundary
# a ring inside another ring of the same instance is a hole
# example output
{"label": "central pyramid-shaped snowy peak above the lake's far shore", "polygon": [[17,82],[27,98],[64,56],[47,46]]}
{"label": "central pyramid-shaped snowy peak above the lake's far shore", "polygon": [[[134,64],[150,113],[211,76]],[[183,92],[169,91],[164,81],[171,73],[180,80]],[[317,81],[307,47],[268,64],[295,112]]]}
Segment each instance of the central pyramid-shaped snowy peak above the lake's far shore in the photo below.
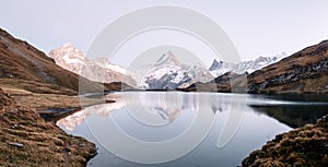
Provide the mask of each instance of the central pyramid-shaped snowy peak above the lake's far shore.
{"label": "central pyramid-shaped snowy peak above the lake's far shore", "polygon": [[213,79],[203,65],[181,63],[171,51],[163,53],[150,69],[140,69],[148,71],[139,83],[140,88],[147,90],[174,90]]}

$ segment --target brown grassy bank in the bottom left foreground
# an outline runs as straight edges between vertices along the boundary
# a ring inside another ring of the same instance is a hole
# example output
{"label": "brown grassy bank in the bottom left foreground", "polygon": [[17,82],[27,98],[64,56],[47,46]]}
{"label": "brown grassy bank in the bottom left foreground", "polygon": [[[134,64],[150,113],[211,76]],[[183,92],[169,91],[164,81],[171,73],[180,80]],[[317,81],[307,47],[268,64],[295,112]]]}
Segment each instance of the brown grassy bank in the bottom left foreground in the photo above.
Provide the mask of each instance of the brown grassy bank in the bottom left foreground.
{"label": "brown grassy bank in the bottom left foreground", "polygon": [[1,166],[85,166],[96,147],[17,106],[0,88],[0,153]]}

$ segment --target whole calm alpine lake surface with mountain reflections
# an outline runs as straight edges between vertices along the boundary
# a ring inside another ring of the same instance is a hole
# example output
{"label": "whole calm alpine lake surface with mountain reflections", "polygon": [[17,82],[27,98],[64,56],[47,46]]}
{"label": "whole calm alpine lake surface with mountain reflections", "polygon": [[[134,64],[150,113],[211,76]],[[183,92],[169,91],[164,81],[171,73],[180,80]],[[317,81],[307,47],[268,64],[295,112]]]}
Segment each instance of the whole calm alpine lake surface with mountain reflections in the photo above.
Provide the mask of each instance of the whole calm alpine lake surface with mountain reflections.
{"label": "whole calm alpine lake surface with mountain reflections", "polygon": [[327,96],[126,92],[60,119],[98,147],[92,167],[234,167],[277,134],[328,114]]}

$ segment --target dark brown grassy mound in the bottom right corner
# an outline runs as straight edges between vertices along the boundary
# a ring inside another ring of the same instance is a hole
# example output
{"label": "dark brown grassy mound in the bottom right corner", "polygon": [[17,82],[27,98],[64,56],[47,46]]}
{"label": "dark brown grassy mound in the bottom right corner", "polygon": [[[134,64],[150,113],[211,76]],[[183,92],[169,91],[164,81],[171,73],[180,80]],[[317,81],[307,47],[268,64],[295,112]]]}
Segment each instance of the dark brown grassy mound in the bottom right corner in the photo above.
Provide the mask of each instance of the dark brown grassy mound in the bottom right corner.
{"label": "dark brown grassy mound in the bottom right corner", "polygon": [[279,134],[243,160],[243,167],[328,166],[328,116],[316,124]]}

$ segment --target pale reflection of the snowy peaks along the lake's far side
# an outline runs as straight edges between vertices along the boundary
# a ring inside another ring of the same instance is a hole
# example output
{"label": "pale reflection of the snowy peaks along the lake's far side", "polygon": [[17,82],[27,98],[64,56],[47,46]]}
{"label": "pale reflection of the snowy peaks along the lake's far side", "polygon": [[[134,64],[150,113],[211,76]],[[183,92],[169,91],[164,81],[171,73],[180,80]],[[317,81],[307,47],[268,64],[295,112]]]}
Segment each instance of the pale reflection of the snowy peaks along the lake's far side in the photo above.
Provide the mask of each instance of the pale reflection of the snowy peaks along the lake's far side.
{"label": "pale reflection of the snowy peaks along the lake's far side", "polygon": [[120,110],[121,108],[130,110],[137,106],[141,106],[143,110],[156,115],[157,119],[161,118],[168,123],[173,122],[181,110],[198,110],[200,103],[202,106],[210,106],[213,114],[216,111],[229,111],[231,109],[233,96],[229,94],[222,94],[222,96],[207,94],[206,96],[202,96],[199,94],[179,92],[148,92],[109,94],[106,98],[114,99],[115,103],[86,107],[58,120],[57,124],[65,127],[69,131],[73,131],[74,128],[81,124],[85,117],[89,117],[90,115],[106,117],[109,116],[112,111]]}

